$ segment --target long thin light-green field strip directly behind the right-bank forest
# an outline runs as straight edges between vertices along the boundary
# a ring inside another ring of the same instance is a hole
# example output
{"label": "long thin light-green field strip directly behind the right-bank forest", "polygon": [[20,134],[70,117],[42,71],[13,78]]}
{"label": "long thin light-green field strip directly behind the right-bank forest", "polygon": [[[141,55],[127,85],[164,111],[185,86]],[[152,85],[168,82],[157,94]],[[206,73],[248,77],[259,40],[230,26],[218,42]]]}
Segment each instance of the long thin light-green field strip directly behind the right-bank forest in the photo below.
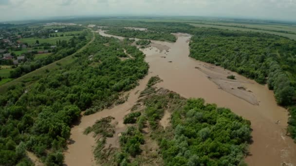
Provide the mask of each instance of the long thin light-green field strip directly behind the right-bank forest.
{"label": "long thin light-green field strip directly behind the right-bank forest", "polygon": [[224,30],[232,30],[232,31],[251,31],[251,32],[259,32],[259,33],[269,33],[269,34],[276,34],[284,37],[289,37],[290,39],[296,40],[296,34],[289,34],[289,33],[278,33],[278,32],[271,32],[271,31],[264,31],[264,30],[254,30],[254,29],[247,29],[247,28],[238,28],[238,27],[227,27],[227,26],[220,26],[220,25],[208,25],[208,24],[196,24],[190,23],[190,25],[196,27],[205,27],[205,28],[218,28]]}

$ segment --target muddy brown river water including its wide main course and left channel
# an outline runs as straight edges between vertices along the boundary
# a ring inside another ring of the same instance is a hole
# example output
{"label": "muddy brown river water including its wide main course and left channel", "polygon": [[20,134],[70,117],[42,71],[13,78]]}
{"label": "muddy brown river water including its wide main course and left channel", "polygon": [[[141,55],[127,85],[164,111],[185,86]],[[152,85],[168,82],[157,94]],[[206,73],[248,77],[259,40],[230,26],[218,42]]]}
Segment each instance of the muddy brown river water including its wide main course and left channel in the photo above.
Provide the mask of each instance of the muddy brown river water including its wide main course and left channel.
{"label": "muddy brown river water including its wide main course and left channel", "polygon": [[[99,33],[117,37],[104,32]],[[158,75],[164,80],[158,83],[159,87],[175,91],[185,98],[203,98],[206,102],[216,103],[219,107],[230,108],[237,115],[250,120],[254,142],[250,145],[250,155],[245,159],[250,166],[296,165],[296,144],[286,136],[288,112],[277,106],[273,92],[268,90],[267,86],[237,73],[188,57],[188,41],[191,36],[184,33],[175,35],[178,37],[176,43],[152,41],[154,46],[158,44],[166,46],[166,49],[169,48],[166,51],[159,51],[157,47],[142,49],[146,54],[150,73],[139,82],[139,86],[130,91],[127,102],[110,110],[83,116],[81,123],[72,128],[71,139],[74,143],[70,144],[65,152],[65,163],[68,166],[94,165],[92,150],[95,139],[91,135],[83,135],[84,129],[94,124],[97,119],[106,116],[114,116],[115,120],[118,120],[117,128],[122,129],[122,117],[138,98],[138,94],[134,93],[143,90],[152,75]],[[123,39],[123,37],[118,38]],[[163,58],[164,56],[166,58]],[[170,61],[171,63],[168,63]],[[234,74],[237,80],[235,82],[225,80],[224,77],[228,74]],[[245,90],[237,89],[238,86],[243,86]]]}

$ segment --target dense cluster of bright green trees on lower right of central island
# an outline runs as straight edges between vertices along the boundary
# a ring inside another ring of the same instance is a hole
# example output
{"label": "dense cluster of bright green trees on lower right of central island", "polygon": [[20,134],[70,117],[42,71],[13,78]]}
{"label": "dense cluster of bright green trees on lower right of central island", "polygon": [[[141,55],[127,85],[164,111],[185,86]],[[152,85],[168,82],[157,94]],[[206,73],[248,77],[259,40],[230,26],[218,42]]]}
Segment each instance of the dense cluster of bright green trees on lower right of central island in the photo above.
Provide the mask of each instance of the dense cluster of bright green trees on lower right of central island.
{"label": "dense cluster of bright green trees on lower right of central island", "polygon": [[173,138],[162,139],[161,151],[167,166],[243,164],[251,138],[250,122],[229,109],[189,99],[172,115]]}

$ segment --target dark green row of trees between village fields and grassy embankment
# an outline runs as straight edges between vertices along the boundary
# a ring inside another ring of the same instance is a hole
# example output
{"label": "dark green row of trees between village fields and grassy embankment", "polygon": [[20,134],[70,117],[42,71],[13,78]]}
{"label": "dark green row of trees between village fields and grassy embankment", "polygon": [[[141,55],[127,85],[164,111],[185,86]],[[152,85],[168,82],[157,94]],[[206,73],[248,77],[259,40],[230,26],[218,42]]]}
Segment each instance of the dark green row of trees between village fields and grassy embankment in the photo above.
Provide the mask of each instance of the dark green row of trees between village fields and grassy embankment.
{"label": "dark green row of trees between village fields and grassy embankment", "polygon": [[10,71],[10,78],[18,78],[42,66],[46,66],[68,55],[73,54],[87,43],[87,34],[88,33],[84,33],[83,35],[80,35],[78,37],[74,36],[69,40],[69,42],[67,42],[66,40],[60,41],[51,55],[44,58],[27,61],[24,64],[19,65],[17,68]]}

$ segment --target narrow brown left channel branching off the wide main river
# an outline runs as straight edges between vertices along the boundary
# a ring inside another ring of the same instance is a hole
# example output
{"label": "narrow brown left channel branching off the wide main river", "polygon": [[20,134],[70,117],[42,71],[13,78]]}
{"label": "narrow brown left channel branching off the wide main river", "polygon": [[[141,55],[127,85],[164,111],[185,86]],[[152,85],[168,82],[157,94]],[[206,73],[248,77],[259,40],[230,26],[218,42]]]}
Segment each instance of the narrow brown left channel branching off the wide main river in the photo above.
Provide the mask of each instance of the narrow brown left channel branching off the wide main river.
{"label": "narrow brown left channel branching off the wide main river", "polygon": [[124,131],[125,125],[123,124],[123,117],[129,113],[130,108],[138,100],[139,93],[137,91],[143,91],[148,79],[151,77],[151,73],[148,74],[144,79],[139,81],[139,86],[130,90],[128,100],[121,104],[114,106],[111,109],[104,109],[101,112],[89,116],[82,116],[79,124],[75,125],[71,129],[70,142],[68,149],[64,152],[65,164],[67,166],[95,166],[95,159],[93,156],[93,149],[96,146],[95,138],[92,134],[83,134],[84,130],[92,126],[96,120],[102,117],[112,116],[116,121],[115,134],[113,138],[107,138],[106,145],[118,148],[118,134]]}

